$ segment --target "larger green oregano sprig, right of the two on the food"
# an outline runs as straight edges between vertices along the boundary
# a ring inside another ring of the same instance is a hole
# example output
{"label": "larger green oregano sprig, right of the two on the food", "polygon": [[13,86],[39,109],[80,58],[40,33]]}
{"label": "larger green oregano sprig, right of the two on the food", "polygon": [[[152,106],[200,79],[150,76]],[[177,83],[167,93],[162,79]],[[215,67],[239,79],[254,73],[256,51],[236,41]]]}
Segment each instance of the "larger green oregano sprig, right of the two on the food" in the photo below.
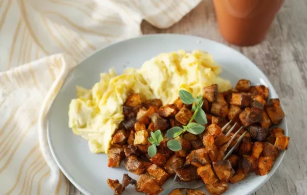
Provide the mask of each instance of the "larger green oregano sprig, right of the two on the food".
{"label": "larger green oregano sprig, right of the two on the food", "polygon": [[[201,134],[205,131],[205,127],[203,125],[206,125],[208,123],[206,114],[202,109],[202,105],[204,103],[202,95],[199,95],[194,98],[189,91],[181,89],[179,91],[179,97],[184,104],[193,104],[192,111],[194,111],[194,114],[192,115],[187,126],[182,126],[183,128],[172,127],[166,132],[165,137],[171,139],[167,142],[167,147],[172,151],[181,150],[180,142],[172,138],[180,136],[185,131],[188,131],[194,135]],[[192,122],[193,119],[195,119],[196,123]]]}

